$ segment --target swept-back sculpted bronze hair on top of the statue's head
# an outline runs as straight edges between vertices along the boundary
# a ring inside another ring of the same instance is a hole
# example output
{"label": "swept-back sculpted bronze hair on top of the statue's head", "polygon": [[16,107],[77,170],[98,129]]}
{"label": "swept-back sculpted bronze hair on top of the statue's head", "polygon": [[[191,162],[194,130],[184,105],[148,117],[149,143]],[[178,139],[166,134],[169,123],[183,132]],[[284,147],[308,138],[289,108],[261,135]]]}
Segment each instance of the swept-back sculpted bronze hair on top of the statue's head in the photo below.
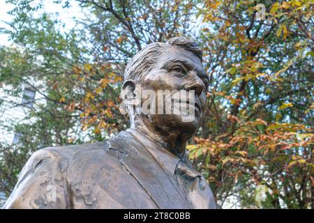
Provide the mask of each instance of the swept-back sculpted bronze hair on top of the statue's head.
{"label": "swept-back sculpted bronze hair on top of the statue's head", "polygon": [[130,60],[124,72],[124,82],[132,79],[135,83],[139,83],[154,68],[159,56],[165,52],[166,47],[186,49],[193,52],[202,61],[202,49],[200,46],[183,36],[171,38],[167,43],[151,43],[141,49]]}

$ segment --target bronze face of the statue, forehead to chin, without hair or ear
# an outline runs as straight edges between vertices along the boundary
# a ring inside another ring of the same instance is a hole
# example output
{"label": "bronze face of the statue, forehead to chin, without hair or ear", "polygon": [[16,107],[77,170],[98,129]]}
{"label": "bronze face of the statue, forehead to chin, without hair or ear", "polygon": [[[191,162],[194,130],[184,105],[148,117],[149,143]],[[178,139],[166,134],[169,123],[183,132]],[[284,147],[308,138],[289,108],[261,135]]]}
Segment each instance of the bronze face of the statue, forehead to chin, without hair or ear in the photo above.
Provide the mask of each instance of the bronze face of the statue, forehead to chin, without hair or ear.
{"label": "bronze face of the statue, forehead to chin, without hair or ear", "polygon": [[[202,121],[206,107],[207,84],[208,79],[202,62],[193,52],[179,47],[167,47],[165,53],[159,57],[155,68],[142,79],[141,91],[154,91],[156,102],[160,97],[158,94],[160,90],[183,91],[187,93],[186,95],[194,91],[194,101],[190,101],[188,96],[186,101],[179,100],[179,105],[186,106],[189,111],[193,109],[193,119],[184,121],[185,114],[174,114],[174,107],[172,107],[171,114],[167,114],[165,107],[169,101],[164,100],[163,114],[151,114],[151,122],[166,132],[172,130],[195,132]],[[172,95],[172,102],[177,96],[178,94]],[[178,104],[174,104],[174,106],[176,105]],[[156,108],[158,109],[158,105]]]}

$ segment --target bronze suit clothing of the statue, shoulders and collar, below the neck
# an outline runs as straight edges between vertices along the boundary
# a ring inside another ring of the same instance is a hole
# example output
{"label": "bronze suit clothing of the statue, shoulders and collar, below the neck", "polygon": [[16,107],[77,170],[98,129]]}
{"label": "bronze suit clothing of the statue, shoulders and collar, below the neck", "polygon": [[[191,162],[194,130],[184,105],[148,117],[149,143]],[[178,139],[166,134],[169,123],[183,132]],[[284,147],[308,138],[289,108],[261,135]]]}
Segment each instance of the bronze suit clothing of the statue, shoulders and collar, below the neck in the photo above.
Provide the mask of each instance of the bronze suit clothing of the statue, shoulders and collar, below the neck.
{"label": "bronze suit clothing of the statue, shoulders and collar, below the neck", "polygon": [[186,160],[128,129],[96,144],[43,148],[3,208],[216,208]]}

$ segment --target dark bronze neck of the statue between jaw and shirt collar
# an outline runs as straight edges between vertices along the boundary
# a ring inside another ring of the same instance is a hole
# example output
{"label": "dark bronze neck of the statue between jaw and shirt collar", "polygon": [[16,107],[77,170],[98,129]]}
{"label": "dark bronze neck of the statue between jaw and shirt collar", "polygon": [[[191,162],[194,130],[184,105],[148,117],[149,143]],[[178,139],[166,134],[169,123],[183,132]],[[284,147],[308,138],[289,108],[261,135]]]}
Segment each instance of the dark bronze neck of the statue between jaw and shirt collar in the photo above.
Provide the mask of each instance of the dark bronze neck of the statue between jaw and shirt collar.
{"label": "dark bronze neck of the statue between jaw and shirt collar", "polygon": [[186,141],[190,138],[190,135],[183,134],[178,130],[169,131],[160,128],[151,123],[145,116],[135,118],[131,122],[130,128],[144,134],[145,137],[163,146],[177,157],[184,157],[186,153]]}

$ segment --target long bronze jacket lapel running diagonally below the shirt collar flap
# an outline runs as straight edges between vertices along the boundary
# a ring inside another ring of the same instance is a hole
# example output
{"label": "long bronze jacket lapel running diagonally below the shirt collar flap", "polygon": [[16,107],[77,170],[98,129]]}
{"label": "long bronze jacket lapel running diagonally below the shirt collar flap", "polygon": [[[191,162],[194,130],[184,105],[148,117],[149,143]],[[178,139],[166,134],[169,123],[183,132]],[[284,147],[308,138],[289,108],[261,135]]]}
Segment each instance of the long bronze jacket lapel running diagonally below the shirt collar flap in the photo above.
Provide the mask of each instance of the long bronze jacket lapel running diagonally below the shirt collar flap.
{"label": "long bronze jacket lapel running diagonally below the shirt collar flap", "polygon": [[135,141],[132,134],[120,132],[110,140],[110,148],[126,151],[120,162],[137,183],[149,194],[158,208],[191,208],[170,178],[146,148]]}

